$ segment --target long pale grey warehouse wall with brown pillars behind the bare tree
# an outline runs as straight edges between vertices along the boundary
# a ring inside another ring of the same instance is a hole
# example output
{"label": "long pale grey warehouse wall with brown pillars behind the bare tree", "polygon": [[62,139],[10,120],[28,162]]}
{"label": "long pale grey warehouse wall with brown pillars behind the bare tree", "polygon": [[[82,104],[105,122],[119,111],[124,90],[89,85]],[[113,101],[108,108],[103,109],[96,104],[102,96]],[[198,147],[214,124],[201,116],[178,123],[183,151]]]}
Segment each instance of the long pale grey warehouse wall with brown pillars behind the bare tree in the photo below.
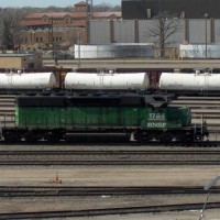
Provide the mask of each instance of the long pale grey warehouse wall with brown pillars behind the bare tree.
{"label": "long pale grey warehouse wall with brown pillars behind the bare tree", "polygon": [[[123,21],[90,21],[89,44],[111,44],[111,43],[155,43],[153,37],[148,37],[148,30],[155,26],[155,20],[123,20]],[[208,45],[208,57],[218,57],[215,44],[220,44],[220,19],[186,19],[180,20],[182,31],[169,37],[169,44],[165,47],[167,56],[178,56],[179,45],[191,45],[194,51],[197,47]],[[99,33],[99,34],[98,34]],[[101,34],[100,34],[101,33]],[[206,37],[207,36],[207,37]],[[158,45],[154,44],[158,51]],[[155,54],[157,54],[155,51]],[[191,53],[190,46],[185,51]],[[189,52],[188,52],[189,51]],[[184,52],[186,54],[186,52]],[[198,54],[197,54],[198,55]],[[201,54],[201,57],[204,54]],[[184,57],[184,56],[183,56]]]}

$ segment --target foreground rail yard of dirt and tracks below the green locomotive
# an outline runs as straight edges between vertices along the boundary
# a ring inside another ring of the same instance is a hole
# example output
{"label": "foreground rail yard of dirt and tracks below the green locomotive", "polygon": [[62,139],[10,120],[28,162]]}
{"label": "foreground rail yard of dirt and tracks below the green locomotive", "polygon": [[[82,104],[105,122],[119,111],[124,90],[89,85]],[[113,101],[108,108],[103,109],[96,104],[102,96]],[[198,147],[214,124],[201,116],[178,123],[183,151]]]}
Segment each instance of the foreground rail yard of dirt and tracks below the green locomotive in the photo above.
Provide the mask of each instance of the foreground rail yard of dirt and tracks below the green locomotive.
{"label": "foreground rail yard of dirt and tracks below the green locomotive", "polygon": [[[123,219],[122,213],[131,219],[151,219],[154,212],[154,219],[167,216],[167,219],[190,220],[199,216],[206,200],[204,186],[219,175],[219,160],[210,164],[205,158],[205,155],[219,158],[218,147],[1,145],[0,151],[1,162],[4,161],[0,167],[0,219],[9,219],[10,216],[12,219],[19,216],[24,218],[21,213],[12,216],[15,212],[25,212],[28,219],[36,215],[42,218],[51,215],[77,219],[86,219],[87,216],[94,216],[94,219]],[[151,161],[155,163],[140,165],[139,161],[132,161],[134,152],[142,160],[145,157],[143,154],[151,155]],[[196,158],[200,161],[198,164],[187,165]],[[174,166],[170,160],[178,163]],[[34,163],[37,161],[41,165]],[[55,164],[55,161],[59,163]],[[72,165],[74,161],[84,161],[85,164]],[[109,161],[112,163],[109,164]],[[129,161],[132,163],[127,163]],[[210,208],[220,207],[219,196],[220,188],[213,187],[206,211],[208,219],[217,213]],[[128,216],[136,212],[144,213]]]}

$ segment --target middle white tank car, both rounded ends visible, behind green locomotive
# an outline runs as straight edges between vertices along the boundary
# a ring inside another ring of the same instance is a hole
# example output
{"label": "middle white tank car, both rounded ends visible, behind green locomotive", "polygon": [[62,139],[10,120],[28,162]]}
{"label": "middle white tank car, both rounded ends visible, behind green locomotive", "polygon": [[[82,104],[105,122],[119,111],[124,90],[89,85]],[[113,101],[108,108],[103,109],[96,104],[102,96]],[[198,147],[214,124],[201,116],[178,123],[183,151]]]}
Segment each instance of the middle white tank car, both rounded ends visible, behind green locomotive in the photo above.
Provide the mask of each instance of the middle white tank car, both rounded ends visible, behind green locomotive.
{"label": "middle white tank car, both rounded ends visible, behind green locomotive", "polygon": [[65,88],[72,90],[136,90],[150,86],[146,73],[67,73]]}

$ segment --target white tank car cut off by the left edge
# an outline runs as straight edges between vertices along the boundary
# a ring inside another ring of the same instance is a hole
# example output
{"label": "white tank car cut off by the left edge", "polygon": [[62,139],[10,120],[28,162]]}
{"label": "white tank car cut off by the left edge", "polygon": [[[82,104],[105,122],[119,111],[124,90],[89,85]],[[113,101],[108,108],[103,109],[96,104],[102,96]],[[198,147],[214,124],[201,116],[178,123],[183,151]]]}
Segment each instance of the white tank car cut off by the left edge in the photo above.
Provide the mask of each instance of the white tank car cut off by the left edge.
{"label": "white tank car cut off by the left edge", "polygon": [[53,73],[7,73],[0,78],[0,89],[45,89],[56,85]]}

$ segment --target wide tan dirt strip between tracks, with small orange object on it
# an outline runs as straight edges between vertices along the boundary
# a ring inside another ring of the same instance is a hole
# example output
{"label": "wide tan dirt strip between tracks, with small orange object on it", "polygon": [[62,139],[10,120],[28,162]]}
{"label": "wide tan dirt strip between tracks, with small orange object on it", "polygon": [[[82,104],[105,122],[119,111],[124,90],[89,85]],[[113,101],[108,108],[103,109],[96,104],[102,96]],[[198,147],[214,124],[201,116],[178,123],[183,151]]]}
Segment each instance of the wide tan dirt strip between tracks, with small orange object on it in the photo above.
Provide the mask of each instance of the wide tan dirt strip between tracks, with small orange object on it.
{"label": "wide tan dirt strip between tracks, with small orange object on it", "polygon": [[220,175],[219,166],[48,166],[0,167],[1,186],[50,185],[56,175],[63,186],[205,186]]}

